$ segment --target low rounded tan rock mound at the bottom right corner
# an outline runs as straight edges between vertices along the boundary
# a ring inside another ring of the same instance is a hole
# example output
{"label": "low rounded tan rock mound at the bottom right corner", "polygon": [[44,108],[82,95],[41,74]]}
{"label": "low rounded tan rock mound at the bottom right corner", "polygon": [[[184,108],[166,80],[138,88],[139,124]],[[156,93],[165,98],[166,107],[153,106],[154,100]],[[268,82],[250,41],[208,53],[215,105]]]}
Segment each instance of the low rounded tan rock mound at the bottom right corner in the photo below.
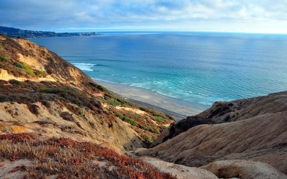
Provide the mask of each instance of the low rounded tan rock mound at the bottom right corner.
{"label": "low rounded tan rock mound at the bottom right corner", "polygon": [[226,160],[210,163],[200,167],[211,171],[219,178],[242,179],[286,179],[287,176],[274,167],[262,163],[245,160]]}

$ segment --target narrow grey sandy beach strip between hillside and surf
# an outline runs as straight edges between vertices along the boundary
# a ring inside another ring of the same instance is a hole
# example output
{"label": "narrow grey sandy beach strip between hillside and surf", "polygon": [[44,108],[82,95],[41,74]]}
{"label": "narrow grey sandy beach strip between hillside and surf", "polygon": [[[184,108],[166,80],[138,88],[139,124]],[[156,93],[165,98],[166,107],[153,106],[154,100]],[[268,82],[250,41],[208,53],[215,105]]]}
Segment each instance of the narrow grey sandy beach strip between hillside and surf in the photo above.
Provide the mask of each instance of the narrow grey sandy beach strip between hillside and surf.
{"label": "narrow grey sandy beach strip between hillside and surf", "polygon": [[196,115],[208,106],[194,104],[189,101],[176,99],[157,92],[129,85],[116,84],[93,79],[96,83],[103,85],[108,90],[136,103],[147,106],[165,114],[171,115],[176,120]]}

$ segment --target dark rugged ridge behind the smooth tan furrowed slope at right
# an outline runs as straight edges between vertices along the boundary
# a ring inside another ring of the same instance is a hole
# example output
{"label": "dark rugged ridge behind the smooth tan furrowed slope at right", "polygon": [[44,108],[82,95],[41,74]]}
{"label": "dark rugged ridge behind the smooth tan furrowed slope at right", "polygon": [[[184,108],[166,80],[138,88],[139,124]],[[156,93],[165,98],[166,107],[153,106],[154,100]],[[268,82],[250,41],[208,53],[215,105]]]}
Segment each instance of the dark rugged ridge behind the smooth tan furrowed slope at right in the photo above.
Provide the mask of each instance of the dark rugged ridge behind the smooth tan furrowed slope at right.
{"label": "dark rugged ridge behind the smooth tan furrowed slope at right", "polygon": [[287,111],[287,92],[230,102],[218,101],[202,113],[176,121],[151,144],[154,147],[200,124],[232,122],[257,115]]}

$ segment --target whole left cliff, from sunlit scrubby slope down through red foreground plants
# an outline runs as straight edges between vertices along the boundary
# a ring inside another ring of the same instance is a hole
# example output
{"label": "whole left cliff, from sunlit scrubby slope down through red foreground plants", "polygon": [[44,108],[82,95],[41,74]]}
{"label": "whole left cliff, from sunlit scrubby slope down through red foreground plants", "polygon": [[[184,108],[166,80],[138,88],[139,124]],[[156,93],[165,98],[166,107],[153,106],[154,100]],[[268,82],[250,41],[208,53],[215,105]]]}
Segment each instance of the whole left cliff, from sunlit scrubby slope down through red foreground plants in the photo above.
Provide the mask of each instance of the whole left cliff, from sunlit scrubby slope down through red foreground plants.
{"label": "whole left cliff, from sunlit scrubby slope down through red foreground plants", "polygon": [[173,178],[121,156],[148,146],[172,122],[94,83],[45,47],[0,36],[1,178]]}

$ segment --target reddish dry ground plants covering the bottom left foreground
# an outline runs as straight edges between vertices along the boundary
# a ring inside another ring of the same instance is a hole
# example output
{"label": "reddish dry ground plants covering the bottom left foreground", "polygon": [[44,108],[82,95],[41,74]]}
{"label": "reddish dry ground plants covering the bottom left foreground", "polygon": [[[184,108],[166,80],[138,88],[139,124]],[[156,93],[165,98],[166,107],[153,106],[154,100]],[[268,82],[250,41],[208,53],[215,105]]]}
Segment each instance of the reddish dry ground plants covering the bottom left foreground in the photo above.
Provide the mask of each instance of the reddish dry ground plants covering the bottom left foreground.
{"label": "reddish dry ground plants covering the bottom left foreground", "polygon": [[[0,135],[0,156],[15,161],[29,159],[32,167],[22,166],[28,178],[175,178],[139,159],[119,155],[114,150],[67,138],[38,139],[35,134]],[[103,161],[99,166],[93,161]],[[113,166],[113,167],[111,167]]]}

